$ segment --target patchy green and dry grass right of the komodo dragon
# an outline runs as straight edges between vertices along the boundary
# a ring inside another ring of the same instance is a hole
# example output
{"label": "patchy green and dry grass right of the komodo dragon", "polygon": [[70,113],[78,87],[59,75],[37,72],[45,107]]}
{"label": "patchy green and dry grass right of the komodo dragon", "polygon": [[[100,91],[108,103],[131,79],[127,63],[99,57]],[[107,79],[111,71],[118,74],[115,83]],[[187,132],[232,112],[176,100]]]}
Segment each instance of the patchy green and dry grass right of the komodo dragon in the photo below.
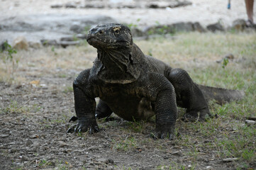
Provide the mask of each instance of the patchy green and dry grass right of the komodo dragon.
{"label": "patchy green and dry grass right of the komodo dragon", "polygon": [[[238,157],[235,167],[249,168],[256,160],[256,129],[255,125],[245,125],[245,117],[256,117],[256,35],[182,33],[174,40],[159,38],[137,44],[143,52],[150,52],[172,67],[186,69],[198,84],[245,91],[242,101],[223,106],[210,103],[211,112],[219,118],[206,123],[177,123],[182,131],[177,145],[189,147],[190,157],[195,157],[199,148],[217,149],[216,157]],[[229,60],[225,68],[216,63],[230,53],[235,60]]]}

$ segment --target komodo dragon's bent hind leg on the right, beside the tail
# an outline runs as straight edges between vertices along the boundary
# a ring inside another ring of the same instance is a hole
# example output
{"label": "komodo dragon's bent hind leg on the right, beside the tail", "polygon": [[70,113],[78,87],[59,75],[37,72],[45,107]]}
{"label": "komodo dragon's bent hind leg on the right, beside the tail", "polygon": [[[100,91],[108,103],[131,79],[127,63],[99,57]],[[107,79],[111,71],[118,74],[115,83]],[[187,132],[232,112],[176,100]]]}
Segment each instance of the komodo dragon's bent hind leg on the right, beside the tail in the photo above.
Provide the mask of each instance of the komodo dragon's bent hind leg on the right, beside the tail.
{"label": "komodo dragon's bent hind leg on the right, beside the tail", "polygon": [[186,119],[205,120],[207,115],[211,117],[203,93],[184,69],[167,69],[165,77],[174,86],[177,105],[187,108]]}

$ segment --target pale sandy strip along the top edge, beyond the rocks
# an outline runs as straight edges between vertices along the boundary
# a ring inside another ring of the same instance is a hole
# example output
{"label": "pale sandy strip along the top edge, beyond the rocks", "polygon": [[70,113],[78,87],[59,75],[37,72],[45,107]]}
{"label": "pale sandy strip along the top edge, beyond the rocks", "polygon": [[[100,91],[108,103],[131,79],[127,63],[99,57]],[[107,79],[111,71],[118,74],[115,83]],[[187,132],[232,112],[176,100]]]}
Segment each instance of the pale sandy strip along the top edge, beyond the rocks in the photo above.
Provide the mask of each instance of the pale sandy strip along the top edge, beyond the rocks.
{"label": "pale sandy strip along the top edge, beyond the rocks", "polygon": [[[52,4],[65,4],[68,0],[1,0],[0,16],[21,16],[30,14],[47,13],[72,13],[72,14],[101,14],[111,16],[117,21],[135,23],[139,18],[139,26],[151,26],[155,22],[177,23],[179,21],[199,21],[206,26],[210,23],[222,21],[225,26],[230,26],[237,18],[247,19],[245,2],[243,0],[231,1],[231,9],[228,10],[228,0],[190,0],[193,5],[180,8],[146,9],[146,8],[50,8]],[[83,4],[84,1],[76,1]],[[256,11],[256,5],[254,6]]]}

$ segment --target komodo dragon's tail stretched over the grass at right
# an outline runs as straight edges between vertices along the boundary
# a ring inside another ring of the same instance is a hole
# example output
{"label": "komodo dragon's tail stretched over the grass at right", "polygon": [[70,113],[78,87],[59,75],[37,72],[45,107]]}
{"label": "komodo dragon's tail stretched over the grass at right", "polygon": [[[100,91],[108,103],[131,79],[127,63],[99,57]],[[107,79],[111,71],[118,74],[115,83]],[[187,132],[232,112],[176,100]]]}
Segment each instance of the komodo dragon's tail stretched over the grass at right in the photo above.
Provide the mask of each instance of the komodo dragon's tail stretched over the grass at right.
{"label": "komodo dragon's tail stretched over the grass at right", "polygon": [[211,99],[214,99],[217,101],[217,103],[222,105],[223,103],[230,101],[239,101],[245,96],[245,91],[229,90],[211,86],[203,86],[199,84],[197,85],[203,92],[207,102]]}

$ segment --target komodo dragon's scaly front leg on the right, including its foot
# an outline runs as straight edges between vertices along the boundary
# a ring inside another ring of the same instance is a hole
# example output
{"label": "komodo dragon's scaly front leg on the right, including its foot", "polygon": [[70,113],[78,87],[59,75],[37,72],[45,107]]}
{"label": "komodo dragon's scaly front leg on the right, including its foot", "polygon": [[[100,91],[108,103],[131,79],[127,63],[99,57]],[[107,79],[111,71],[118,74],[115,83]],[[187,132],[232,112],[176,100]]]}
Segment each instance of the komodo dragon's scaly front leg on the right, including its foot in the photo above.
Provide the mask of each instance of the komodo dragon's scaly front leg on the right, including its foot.
{"label": "komodo dragon's scaly front leg on the right, including its foot", "polygon": [[174,88],[160,91],[155,103],[156,128],[155,137],[174,139],[175,123],[177,119],[177,105]]}

